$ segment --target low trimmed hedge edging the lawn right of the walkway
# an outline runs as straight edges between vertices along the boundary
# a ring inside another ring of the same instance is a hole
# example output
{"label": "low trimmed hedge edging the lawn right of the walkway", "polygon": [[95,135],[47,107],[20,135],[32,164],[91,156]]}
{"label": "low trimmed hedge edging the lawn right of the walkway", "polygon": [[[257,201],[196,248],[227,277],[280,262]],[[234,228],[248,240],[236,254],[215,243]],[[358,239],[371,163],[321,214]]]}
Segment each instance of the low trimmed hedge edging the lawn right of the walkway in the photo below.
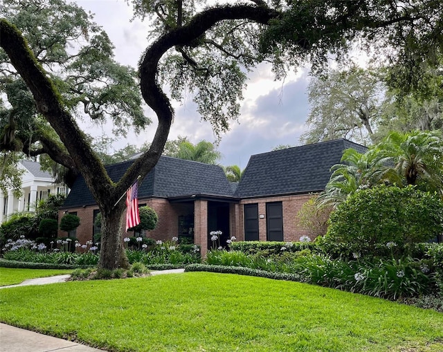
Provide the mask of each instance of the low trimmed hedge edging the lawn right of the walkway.
{"label": "low trimmed hedge edging the lawn right of the walkway", "polygon": [[185,271],[218,272],[220,274],[237,274],[237,275],[247,275],[254,277],[264,277],[266,279],[305,282],[305,279],[297,274],[286,274],[283,272],[269,272],[258,269],[244,268],[243,266],[215,266],[208,264],[190,264],[186,266]]}

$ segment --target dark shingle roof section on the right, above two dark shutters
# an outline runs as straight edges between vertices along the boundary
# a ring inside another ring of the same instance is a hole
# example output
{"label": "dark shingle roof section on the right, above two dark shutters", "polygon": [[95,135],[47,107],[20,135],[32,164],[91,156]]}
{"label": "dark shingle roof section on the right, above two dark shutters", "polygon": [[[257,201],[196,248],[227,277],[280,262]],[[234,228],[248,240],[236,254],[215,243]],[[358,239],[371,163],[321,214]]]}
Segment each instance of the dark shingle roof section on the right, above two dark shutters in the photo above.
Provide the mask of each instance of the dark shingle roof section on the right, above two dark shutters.
{"label": "dark shingle roof section on the right, above two dark shutters", "polygon": [[235,191],[239,198],[309,193],[325,189],[329,169],[340,163],[343,151],[367,148],[339,139],[270,151],[251,156]]}

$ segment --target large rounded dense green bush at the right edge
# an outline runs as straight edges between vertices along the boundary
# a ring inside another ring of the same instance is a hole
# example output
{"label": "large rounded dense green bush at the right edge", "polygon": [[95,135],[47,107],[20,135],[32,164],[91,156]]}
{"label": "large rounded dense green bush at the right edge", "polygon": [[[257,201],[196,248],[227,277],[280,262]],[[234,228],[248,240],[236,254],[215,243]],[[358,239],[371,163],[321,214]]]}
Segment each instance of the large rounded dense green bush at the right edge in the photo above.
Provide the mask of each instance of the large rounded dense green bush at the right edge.
{"label": "large rounded dense green bush at the right edge", "polygon": [[398,257],[413,243],[443,232],[443,202],[413,186],[380,185],[348,196],[330,222],[326,243],[345,243],[348,250],[360,254],[373,254],[387,245]]}

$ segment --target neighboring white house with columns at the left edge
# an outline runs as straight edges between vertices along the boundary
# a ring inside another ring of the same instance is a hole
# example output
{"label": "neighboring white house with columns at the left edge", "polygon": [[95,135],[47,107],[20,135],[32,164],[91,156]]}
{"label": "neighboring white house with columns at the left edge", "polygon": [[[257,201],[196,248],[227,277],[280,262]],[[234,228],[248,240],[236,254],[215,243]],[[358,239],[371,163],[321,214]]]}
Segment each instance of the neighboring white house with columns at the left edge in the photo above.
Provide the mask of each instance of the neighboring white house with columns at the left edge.
{"label": "neighboring white house with columns at the left edge", "polygon": [[33,212],[38,201],[48,198],[48,194],[68,194],[65,185],[54,183],[54,178],[48,172],[40,169],[40,164],[34,161],[22,160],[19,168],[24,169],[21,176],[22,195],[16,198],[12,191],[3,194],[0,189],[0,223],[15,212]]}

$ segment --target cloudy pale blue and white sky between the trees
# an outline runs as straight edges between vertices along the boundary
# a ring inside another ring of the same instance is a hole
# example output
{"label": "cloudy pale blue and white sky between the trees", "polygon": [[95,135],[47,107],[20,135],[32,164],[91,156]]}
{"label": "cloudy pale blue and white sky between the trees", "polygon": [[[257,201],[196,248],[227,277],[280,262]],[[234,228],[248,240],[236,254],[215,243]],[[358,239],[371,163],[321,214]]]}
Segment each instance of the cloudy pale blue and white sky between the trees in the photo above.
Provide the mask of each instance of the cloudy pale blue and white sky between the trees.
{"label": "cloudy pale blue and white sky between the trees", "polygon": [[[124,0],[74,0],[84,10],[90,11],[94,21],[105,29],[115,46],[116,61],[136,68],[138,59],[147,47],[148,27],[138,19],[132,19],[132,8]],[[230,131],[221,135],[217,149],[221,152],[220,164],[246,167],[249,157],[271,151],[278,145],[300,145],[299,137],[306,130],[309,114],[307,100],[307,70],[289,74],[284,82],[275,81],[269,64],[260,64],[248,75],[248,87],[241,102],[239,122],[231,122]],[[169,139],[187,136],[192,143],[200,140],[215,141],[208,122],[201,120],[192,99],[183,103],[173,102],[174,124]],[[125,140],[114,144],[115,149],[125,145],[143,145],[151,141],[156,128],[156,116],[146,107],[153,124],[136,136],[129,133]],[[100,136],[110,127],[84,124],[88,133]]]}

